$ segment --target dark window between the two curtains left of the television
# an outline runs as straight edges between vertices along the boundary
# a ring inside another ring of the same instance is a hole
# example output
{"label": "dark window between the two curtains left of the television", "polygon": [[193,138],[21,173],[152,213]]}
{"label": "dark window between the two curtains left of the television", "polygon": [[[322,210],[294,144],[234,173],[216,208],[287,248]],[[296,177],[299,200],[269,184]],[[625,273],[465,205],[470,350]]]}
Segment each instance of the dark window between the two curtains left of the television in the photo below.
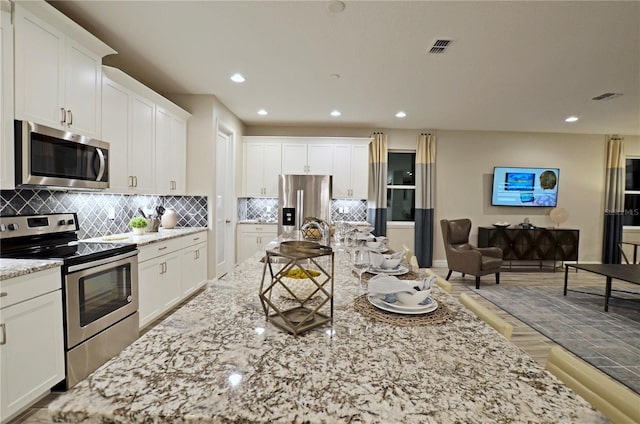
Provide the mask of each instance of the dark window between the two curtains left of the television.
{"label": "dark window between the two curtains left of the television", "polygon": [[389,152],[387,163],[387,221],[415,219],[416,154]]}

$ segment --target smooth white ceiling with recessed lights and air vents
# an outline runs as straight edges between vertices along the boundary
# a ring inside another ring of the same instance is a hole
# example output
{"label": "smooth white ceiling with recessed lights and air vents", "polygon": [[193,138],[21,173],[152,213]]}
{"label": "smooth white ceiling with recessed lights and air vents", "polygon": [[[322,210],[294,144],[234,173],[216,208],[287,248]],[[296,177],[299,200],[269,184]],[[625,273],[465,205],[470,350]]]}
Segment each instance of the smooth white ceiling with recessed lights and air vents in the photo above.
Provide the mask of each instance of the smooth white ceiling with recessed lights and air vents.
{"label": "smooth white ceiling with recessed lights and air vents", "polygon": [[[105,63],[247,125],[640,135],[638,1],[345,4],[53,2],[119,52]],[[437,38],[455,41],[428,54]],[[606,92],[624,95],[591,100]]]}

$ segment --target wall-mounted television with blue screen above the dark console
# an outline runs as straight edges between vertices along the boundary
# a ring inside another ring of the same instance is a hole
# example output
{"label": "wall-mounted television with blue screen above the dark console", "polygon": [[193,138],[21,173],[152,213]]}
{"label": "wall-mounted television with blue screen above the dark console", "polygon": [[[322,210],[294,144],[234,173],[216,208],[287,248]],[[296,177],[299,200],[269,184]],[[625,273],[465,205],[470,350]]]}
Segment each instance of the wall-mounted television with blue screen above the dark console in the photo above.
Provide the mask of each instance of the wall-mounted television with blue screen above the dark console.
{"label": "wall-mounted television with blue screen above the dark console", "polygon": [[493,206],[554,207],[558,201],[558,168],[493,168]]}

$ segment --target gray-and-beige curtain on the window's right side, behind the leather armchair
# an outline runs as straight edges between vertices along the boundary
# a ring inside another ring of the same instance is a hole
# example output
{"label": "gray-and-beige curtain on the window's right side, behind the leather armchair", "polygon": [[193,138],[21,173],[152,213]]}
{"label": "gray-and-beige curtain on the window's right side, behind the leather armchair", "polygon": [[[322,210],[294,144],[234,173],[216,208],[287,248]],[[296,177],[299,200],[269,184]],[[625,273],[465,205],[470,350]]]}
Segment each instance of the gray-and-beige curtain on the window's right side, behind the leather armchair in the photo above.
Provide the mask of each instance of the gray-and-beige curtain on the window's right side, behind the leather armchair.
{"label": "gray-and-beige curtain on the window's right side, behind the leather armchair", "polygon": [[421,268],[433,265],[436,138],[420,134],[416,146],[415,255]]}

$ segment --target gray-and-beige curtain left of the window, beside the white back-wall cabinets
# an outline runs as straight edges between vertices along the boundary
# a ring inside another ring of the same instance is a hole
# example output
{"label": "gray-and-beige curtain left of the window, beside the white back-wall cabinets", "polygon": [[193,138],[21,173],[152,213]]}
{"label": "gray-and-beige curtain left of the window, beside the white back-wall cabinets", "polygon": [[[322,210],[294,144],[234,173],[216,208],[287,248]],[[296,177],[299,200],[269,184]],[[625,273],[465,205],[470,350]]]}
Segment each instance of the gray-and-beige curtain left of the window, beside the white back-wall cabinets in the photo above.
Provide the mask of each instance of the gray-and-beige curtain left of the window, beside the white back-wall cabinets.
{"label": "gray-and-beige curtain left of the window, beside the white back-wall cabinets", "polygon": [[387,235],[387,136],[373,133],[369,143],[367,220],[377,236]]}

